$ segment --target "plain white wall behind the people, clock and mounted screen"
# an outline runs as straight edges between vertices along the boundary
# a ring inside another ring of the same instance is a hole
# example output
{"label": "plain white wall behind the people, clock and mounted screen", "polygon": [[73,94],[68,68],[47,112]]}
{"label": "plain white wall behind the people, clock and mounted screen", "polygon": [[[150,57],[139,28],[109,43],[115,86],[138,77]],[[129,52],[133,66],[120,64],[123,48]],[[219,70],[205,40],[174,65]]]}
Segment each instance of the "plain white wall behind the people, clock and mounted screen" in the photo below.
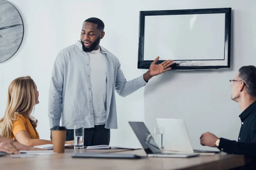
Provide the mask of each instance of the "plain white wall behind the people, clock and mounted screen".
{"label": "plain white wall behind the people, clock and mounted screen", "polygon": [[40,104],[35,107],[34,116],[39,120],[37,129],[41,139],[49,139],[47,101],[54,59],[58,51],[79,40],[85,19],[99,17],[104,21],[106,34],[101,44],[119,58],[126,78],[133,79],[146,71],[137,69],[139,11],[232,7],[232,67],[222,71],[168,71],[126,98],[117,96],[119,128],[111,130],[111,144],[140,147],[128,121],[145,121],[152,130],[157,117],[185,119],[196,148],[201,147],[198,138],[205,131],[237,138],[240,110],[230,100],[228,80],[235,77],[242,65],[254,65],[256,61],[254,0],[10,2],[23,17],[25,34],[15,56],[0,64],[0,117],[4,114],[10,82],[16,77],[30,75],[40,92]]}

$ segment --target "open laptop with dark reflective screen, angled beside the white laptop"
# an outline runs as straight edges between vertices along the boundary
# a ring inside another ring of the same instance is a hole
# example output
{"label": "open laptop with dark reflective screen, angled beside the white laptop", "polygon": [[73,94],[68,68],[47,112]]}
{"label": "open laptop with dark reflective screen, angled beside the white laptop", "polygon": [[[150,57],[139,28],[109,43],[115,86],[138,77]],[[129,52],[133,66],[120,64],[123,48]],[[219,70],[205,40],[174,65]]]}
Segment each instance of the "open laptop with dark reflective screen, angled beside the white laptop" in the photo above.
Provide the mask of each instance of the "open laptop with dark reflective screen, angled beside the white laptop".
{"label": "open laptop with dark reflective screen, angled beside the white laptop", "polygon": [[189,158],[199,155],[198,153],[162,153],[144,122],[129,122],[129,124],[148,157]]}

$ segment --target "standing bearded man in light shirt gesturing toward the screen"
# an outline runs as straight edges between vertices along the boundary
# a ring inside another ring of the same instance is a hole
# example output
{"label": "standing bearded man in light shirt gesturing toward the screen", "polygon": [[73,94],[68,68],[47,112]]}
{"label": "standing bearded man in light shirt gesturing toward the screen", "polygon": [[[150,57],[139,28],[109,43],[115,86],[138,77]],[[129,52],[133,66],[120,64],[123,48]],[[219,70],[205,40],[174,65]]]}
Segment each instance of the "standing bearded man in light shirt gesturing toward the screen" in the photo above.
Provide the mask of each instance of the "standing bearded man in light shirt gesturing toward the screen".
{"label": "standing bearded man in light shirt gesturing toward the screen", "polygon": [[50,128],[62,118],[66,140],[74,140],[74,125],[83,126],[85,146],[109,144],[110,129],[117,128],[115,91],[128,96],[173,64],[157,64],[157,57],[145,74],[127,81],[118,58],[99,45],[104,27],[98,18],[84,21],[80,41],[58,53],[49,88]]}

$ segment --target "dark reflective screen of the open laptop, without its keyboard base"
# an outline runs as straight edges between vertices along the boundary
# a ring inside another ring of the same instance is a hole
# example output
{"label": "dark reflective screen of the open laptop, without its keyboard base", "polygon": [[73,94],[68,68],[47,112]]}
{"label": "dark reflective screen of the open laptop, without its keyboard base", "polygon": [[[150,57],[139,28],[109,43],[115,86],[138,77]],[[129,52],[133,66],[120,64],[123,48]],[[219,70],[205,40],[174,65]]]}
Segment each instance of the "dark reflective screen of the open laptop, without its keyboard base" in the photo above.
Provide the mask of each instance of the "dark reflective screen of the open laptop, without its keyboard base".
{"label": "dark reflective screen of the open laptop, without its keyboard base", "polygon": [[144,122],[129,122],[129,124],[147,154],[161,153],[161,150],[157,146]]}

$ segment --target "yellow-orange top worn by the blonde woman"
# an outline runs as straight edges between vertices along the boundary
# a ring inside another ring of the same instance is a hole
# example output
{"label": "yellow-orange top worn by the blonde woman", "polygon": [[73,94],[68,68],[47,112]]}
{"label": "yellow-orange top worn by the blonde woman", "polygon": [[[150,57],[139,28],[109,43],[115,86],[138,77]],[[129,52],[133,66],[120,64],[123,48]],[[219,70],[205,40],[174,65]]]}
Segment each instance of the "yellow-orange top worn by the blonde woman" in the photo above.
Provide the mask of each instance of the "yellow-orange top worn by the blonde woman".
{"label": "yellow-orange top worn by the blonde woman", "polygon": [[29,118],[19,114],[17,120],[14,121],[12,125],[12,133],[14,135],[12,138],[16,139],[16,134],[21,130],[26,130],[29,133],[31,139],[39,139],[38,132],[33,128]]}

